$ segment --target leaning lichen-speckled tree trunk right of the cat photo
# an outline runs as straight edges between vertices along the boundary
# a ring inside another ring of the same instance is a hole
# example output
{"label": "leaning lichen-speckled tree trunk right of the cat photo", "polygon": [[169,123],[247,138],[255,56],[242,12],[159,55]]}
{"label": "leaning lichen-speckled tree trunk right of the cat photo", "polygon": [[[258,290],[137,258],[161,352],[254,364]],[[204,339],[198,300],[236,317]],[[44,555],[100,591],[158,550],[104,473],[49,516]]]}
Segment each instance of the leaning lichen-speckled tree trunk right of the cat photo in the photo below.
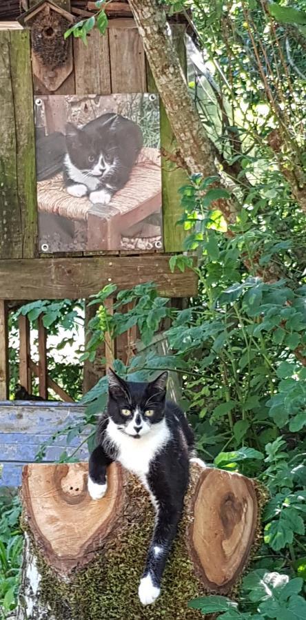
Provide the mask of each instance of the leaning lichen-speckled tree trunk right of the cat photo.
{"label": "leaning lichen-speckled tree trunk right of the cat photo", "polygon": [[[188,172],[219,177],[214,148],[188,92],[179,57],[169,35],[165,12],[157,0],[129,0],[129,3]],[[220,178],[214,186],[222,187]],[[236,214],[234,202],[220,198],[216,203],[225,219],[233,222]]]}

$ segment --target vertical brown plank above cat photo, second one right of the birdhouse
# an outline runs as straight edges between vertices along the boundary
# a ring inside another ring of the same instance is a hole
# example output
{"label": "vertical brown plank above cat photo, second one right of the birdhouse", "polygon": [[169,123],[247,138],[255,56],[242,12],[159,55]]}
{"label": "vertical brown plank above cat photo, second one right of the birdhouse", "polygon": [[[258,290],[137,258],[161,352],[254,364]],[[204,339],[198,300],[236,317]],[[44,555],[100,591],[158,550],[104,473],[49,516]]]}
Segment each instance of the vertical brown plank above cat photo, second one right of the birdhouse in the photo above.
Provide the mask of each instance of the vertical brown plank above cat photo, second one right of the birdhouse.
{"label": "vertical brown plank above cat photo, second one right of the birdhouse", "polygon": [[145,92],[145,52],[136,29],[110,28],[112,92]]}

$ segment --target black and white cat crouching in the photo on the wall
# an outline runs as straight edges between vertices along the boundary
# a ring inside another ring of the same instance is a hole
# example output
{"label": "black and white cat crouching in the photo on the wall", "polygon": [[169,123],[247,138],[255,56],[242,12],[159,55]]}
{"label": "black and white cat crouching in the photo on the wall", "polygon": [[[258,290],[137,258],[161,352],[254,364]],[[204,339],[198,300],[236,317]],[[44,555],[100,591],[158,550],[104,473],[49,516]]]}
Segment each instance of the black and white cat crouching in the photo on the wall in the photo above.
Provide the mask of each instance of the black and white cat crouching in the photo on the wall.
{"label": "black and white cat crouching in the photo on the wall", "polygon": [[108,205],[128,183],[143,146],[141,130],[120,114],[102,114],[79,129],[68,123],[63,180],[71,196],[89,196],[93,204]]}

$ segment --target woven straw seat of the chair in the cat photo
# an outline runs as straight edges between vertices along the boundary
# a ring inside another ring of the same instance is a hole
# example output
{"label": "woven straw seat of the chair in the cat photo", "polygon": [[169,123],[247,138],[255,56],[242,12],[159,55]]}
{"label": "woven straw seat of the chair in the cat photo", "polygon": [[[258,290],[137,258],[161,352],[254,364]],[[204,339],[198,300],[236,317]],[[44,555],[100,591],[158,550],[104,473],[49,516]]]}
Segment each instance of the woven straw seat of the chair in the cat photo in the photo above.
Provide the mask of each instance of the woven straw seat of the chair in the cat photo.
{"label": "woven straw seat of the chair in the cat photo", "polygon": [[[159,149],[145,147],[134,165],[128,183],[114,194],[108,207],[116,214],[125,215],[155,197],[156,211],[161,207],[161,158]],[[56,214],[73,220],[88,220],[92,203],[88,197],[74,198],[63,187],[61,174],[37,183],[39,211]],[[99,205],[95,205],[99,209]],[[101,211],[108,207],[101,206]],[[144,214],[145,217],[146,214]]]}

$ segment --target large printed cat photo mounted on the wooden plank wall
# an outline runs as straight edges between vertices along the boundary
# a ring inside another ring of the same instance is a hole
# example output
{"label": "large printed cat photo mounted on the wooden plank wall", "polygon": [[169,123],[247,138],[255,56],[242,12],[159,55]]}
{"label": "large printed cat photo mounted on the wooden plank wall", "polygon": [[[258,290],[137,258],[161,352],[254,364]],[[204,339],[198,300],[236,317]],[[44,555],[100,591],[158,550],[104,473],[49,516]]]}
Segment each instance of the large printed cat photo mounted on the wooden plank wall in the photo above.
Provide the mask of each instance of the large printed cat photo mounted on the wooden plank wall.
{"label": "large printed cat photo mounted on the wooden plank wall", "polygon": [[39,251],[162,251],[159,96],[36,96],[34,114]]}

